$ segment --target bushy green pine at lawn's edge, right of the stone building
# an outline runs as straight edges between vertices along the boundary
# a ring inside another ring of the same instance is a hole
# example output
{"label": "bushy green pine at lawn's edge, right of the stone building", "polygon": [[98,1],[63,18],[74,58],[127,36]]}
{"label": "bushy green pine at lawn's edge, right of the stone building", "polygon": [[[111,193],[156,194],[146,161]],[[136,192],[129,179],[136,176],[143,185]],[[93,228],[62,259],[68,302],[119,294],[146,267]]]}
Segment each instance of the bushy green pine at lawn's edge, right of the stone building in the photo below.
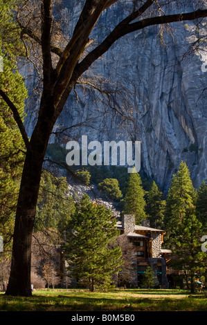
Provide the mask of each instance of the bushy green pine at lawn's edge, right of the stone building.
{"label": "bushy green pine at lawn's edge, right of the stone building", "polygon": [[201,251],[201,236],[204,234],[202,224],[194,211],[188,211],[179,224],[174,254],[174,266],[186,271],[187,283],[190,280],[190,292],[195,292],[195,279],[205,272],[206,252]]}

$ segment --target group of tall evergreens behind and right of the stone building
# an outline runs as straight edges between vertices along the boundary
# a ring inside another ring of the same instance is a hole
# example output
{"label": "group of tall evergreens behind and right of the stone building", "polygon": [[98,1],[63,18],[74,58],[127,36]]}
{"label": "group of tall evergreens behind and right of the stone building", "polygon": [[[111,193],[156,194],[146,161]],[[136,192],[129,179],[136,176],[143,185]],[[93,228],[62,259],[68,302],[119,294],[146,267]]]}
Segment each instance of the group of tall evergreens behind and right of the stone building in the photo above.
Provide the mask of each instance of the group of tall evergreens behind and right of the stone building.
{"label": "group of tall evergreens behind and right of the stone building", "polygon": [[[138,224],[150,219],[151,227],[165,230],[164,246],[172,250],[170,264],[184,272],[191,293],[195,293],[196,280],[206,273],[206,252],[201,250],[201,238],[207,226],[206,203],[207,183],[203,181],[196,190],[183,161],[172,178],[166,198],[155,182],[146,193],[140,176],[136,173],[129,176],[123,212],[134,214]],[[150,281],[148,273],[146,277]]]}

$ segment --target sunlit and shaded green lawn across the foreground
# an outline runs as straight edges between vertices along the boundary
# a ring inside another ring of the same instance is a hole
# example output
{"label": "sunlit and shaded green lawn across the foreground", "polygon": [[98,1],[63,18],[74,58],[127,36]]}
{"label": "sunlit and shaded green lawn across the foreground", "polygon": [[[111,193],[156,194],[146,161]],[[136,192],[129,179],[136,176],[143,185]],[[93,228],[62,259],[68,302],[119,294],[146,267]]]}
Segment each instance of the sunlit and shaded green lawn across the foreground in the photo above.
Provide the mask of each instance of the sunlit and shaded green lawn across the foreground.
{"label": "sunlit and shaded green lawn across the foreground", "polygon": [[207,297],[186,290],[39,290],[33,297],[0,293],[0,311],[206,311]]}

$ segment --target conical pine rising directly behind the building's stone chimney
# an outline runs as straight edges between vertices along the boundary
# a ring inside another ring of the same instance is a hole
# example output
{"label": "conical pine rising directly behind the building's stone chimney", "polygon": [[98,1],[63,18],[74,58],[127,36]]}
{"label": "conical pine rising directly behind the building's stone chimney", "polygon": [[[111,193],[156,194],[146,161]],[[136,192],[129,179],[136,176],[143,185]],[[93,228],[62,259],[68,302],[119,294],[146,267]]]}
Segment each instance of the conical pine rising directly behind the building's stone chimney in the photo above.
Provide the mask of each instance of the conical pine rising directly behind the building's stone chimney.
{"label": "conical pine rising directly behind the building's stone chimney", "polygon": [[145,205],[145,191],[142,187],[141,176],[138,173],[132,173],[127,183],[123,212],[134,214],[136,224],[140,224],[143,219],[146,219]]}

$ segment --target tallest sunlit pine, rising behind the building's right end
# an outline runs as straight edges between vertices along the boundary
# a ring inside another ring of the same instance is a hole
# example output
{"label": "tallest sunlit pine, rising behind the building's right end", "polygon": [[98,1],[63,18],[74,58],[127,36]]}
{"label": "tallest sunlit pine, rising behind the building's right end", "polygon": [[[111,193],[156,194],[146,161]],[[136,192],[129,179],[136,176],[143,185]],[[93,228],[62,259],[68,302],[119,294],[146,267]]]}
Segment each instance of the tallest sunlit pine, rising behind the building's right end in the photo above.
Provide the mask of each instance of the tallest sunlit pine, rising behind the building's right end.
{"label": "tallest sunlit pine, rising behind the building's right end", "polygon": [[165,209],[165,243],[173,245],[178,227],[188,210],[195,207],[196,193],[186,163],[181,162],[179,171],[173,176]]}

